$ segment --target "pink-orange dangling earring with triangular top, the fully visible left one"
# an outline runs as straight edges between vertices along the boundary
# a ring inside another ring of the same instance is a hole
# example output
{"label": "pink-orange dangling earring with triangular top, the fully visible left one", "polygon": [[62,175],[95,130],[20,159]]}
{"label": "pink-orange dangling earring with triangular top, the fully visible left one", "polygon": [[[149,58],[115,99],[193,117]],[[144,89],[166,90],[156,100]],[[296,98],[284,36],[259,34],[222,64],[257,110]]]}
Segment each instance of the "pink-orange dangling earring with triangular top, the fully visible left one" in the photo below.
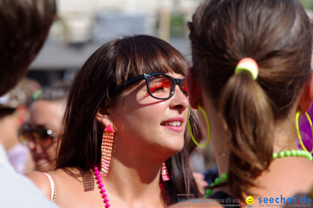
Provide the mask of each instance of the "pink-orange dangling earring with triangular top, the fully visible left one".
{"label": "pink-orange dangling earring with triangular top, the fully visible left one", "polygon": [[109,173],[113,139],[114,139],[114,128],[112,123],[105,128],[102,136],[101,143],[101,171],[100,174],[106,176]]}

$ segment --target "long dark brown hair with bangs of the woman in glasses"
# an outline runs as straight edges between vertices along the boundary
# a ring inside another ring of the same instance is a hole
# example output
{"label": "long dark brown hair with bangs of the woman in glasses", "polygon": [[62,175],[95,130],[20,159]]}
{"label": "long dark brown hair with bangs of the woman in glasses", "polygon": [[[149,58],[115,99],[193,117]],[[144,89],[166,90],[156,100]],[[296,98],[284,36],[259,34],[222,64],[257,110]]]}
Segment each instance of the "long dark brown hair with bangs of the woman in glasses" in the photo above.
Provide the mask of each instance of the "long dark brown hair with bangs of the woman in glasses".
{"label": "long dark brown hair with bangs of the woman in glasses", "polygon": [[[103,126],[96,120],[103,107],[114,105],[117,95],[110,91],[115,84],[144,73],[175,72],[186,75],[188,64],[183,55],[167,42],[147,35],[115,39],[101,46],[76,75],[64,117],[64,136],[59,148],[56,168],[78,167],[90,170],[100,164]],[[200,140],[198,120],[190,118],[196,138]],[[185,133],[182,151],[166,160],[171,180],[164,183],[169,204],[177,202],[177,194],[200,196],[188,165],[195,144]]]}

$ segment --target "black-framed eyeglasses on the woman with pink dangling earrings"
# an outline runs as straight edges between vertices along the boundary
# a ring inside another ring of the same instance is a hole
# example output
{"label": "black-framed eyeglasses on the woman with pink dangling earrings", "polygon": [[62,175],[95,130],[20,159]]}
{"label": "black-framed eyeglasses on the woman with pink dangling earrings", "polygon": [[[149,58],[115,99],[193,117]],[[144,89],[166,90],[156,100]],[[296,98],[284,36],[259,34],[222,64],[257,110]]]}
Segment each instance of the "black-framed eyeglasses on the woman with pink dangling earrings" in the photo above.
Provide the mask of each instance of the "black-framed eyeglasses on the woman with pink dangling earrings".
{"label": "black-framed eyeglasses on the woman with pink dangling earrings", "polygon": [[186,87],[186,79],[173,78],[163,73],[147,73],[126,80],[122,85],[115,86],[114,91],[120,91],[136,81],[146,80],[146,86],[151,97],[159,100],[167,100],[171,98],[175,92],[176,84],[179,84],[181,91],[185,96],[188,95]]}

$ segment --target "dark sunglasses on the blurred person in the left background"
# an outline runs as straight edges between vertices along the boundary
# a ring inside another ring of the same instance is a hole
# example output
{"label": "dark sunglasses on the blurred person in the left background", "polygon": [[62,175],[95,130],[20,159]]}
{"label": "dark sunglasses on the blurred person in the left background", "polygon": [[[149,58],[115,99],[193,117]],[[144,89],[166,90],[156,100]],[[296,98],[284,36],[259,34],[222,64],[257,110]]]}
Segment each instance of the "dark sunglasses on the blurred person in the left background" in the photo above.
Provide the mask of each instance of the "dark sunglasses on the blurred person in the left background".
{"label": "dark sunglasses on the blurred person in the left background", "polygon": [[53,143],[54,135],[50,129],[21,127],[18,130],[21,143],[27,145],[30,141],[46,149]]}

